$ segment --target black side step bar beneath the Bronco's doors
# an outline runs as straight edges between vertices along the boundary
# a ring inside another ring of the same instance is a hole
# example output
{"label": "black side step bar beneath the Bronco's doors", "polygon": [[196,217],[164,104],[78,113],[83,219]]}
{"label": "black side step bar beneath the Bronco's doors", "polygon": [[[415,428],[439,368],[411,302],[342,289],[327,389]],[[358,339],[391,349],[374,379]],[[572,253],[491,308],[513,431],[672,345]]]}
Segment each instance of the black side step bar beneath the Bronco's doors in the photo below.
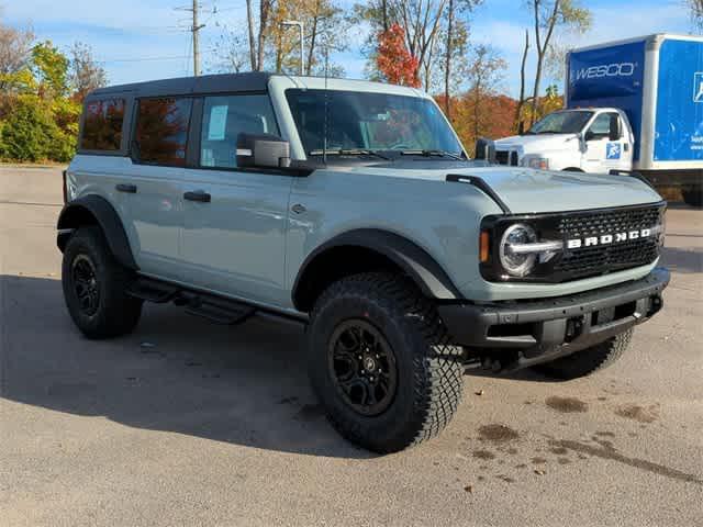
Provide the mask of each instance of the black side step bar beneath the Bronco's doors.
{"label": "black side step bar beneath the Bronco's doors", "polygon": [[254,315],[282,318],[301,324],[305,323],[303,318],[266,311],[245,302],[187,289],[179,284],[147,277],[136,278],[127,288],[127,294],[135,299],[157,304],[174,302],[176,305],[185,306],[186,313],[207,318],[215,324],[241,324]]}

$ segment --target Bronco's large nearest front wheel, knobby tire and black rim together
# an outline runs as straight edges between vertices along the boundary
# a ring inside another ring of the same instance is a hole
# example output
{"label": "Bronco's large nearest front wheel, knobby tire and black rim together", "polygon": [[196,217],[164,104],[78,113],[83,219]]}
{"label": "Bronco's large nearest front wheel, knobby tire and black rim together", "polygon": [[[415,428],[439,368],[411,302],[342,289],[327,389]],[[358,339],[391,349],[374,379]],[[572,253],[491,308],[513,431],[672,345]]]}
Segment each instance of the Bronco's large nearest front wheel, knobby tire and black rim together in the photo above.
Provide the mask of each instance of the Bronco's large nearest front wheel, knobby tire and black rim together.
{"label": "Bronco's large nearest front wheel, knobby tire and black rim together", "polygon": [[309,326],[309,372],[345,438],[394,452],[437,435],[462,395],[461,348],[409,280],[365,273],[333,283]]}

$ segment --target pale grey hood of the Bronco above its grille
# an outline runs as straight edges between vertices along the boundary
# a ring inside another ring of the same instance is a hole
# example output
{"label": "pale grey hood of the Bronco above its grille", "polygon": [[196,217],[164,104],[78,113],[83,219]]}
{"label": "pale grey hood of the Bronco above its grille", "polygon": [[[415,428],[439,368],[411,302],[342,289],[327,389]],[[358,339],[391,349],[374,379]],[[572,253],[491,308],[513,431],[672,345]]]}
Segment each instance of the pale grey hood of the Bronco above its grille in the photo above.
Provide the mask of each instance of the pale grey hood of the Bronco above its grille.
{"label": "pale grey hood of the Bronco above its grille", "polygon": [[661,201],[661,197],[654,189],[631,176],[557,172],[438,160],[357,166],[345,171],[442,181],[445,184],[457,186],[466,183],[448,182],[447,175],[478,177],[483,179],[515,214],[607,209]]}

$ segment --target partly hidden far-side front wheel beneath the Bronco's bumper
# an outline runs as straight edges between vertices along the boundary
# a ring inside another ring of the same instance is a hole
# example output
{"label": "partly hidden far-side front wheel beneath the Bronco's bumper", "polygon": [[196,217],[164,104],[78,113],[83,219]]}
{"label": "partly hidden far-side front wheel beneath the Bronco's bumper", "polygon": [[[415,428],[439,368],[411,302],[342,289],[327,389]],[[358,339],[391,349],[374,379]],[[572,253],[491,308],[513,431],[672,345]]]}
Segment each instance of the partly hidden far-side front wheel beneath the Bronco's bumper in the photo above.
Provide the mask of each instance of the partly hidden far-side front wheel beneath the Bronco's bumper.
{"label": "partly hidden far-side front wheel beneath the Bronco's bumper", "polygon": [[582,349],[560,359],[535,366],[534,369],[555,379],[571,380],[585,377],[594,371],[602,370],[614,363],[622,357],[633,338],[633,329]]}

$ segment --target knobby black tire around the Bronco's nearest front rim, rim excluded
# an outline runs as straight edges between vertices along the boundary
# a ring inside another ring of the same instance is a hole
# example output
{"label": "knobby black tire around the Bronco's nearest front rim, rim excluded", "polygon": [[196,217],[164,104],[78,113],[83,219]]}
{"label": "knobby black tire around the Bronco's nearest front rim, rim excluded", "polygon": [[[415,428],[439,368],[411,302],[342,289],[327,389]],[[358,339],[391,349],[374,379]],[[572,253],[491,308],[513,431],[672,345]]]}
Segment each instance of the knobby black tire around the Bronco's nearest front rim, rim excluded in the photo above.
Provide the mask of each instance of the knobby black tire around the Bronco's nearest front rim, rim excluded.
{"label": "knobby black tire around the Bronco's nearest front rim, rim excluded", "polygon": [[[370,323],[395,357],[397,389],[380,415],[361,415],[348,405],[327,366],[335,328],[349,319]],[[448,344],[435,307],[404,277],[371,272],[333,283],[314,305],[308,340],[310,380],[328,421],[368,450],[394,452],[429,439],[459,405],[462,350]]]}

